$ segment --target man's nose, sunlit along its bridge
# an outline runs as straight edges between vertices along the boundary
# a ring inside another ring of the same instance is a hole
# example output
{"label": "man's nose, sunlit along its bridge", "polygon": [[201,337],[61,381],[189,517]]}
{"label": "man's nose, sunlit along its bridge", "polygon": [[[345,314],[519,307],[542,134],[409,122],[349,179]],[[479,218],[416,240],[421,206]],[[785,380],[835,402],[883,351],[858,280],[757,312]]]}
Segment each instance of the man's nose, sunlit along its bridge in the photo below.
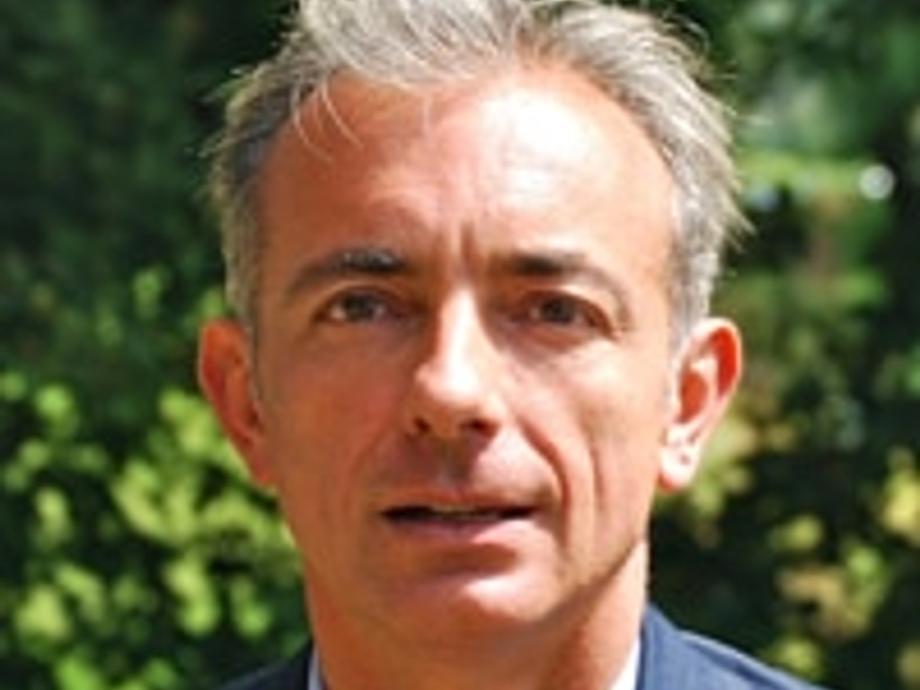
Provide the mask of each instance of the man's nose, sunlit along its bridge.
{"label": "man's nose, sunlit along its bridge", "polygon": [[406,430],[439,441],[494,435],[504,413],[501,357],[475,299],[454,299],[426,331],[409,384]]}

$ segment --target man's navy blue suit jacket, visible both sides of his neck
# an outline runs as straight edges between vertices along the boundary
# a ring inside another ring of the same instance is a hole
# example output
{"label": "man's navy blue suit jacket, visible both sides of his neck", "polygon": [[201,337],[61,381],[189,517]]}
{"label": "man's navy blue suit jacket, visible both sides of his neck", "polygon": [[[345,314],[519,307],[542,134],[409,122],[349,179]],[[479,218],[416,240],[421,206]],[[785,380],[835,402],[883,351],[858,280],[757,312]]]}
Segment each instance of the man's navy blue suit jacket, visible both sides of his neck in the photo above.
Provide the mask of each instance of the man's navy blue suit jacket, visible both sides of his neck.
{"label": "man's navy blue suit jacket, visible both sides of his neck", "polygon": [[[310,652],[223,690],[306,690]],[[815,690],[718,642],[677,630],[650,608],[642,625],[638,690]]]}

